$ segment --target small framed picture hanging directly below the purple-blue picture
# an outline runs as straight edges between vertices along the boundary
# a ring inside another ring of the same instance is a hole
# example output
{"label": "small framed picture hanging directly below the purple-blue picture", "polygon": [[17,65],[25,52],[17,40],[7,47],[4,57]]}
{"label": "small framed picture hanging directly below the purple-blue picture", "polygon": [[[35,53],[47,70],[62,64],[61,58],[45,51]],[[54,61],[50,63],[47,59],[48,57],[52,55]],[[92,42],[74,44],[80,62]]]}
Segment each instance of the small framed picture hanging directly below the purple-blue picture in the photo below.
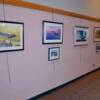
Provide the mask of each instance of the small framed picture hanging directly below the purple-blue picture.
{"label": "small framed picture hanging directly below the purple-blue picture", "polygon": [[52,47],[48,49],[48,60],[60,59],[60,47]]}

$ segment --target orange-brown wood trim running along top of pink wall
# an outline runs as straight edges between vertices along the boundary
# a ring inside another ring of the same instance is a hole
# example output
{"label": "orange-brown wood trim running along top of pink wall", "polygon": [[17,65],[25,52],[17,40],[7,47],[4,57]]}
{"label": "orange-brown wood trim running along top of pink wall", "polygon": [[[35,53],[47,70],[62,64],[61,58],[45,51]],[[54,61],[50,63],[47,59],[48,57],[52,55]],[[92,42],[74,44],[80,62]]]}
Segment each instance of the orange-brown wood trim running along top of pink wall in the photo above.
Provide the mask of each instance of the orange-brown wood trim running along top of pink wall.
{"label": "orange-brown wood trim running along top of pink wall", "polygon": [[[0,3],[2,4],[3,0],[0,0]],[[71,17],[81,18],[81,19],[85,19],[85,20],[100,22],[99,18],[90,17],[90,16],[86,16],[86,15],[82,15],[82,14],[77,14],[77,13],[73,13],[70,11],[64,11],[61,9],[47,7],[47,6],[43,6],[43,5],[39,5],[39,4],[33,4],[33,3],[25,2],[22,0],[4,0],[4,3],[8,4],[8,5],[13,5],[13,6],[36,9],[36,10],[56,13],[56,14],[60,14],[60,15],[64,15],[64,16],[71,16]]]}

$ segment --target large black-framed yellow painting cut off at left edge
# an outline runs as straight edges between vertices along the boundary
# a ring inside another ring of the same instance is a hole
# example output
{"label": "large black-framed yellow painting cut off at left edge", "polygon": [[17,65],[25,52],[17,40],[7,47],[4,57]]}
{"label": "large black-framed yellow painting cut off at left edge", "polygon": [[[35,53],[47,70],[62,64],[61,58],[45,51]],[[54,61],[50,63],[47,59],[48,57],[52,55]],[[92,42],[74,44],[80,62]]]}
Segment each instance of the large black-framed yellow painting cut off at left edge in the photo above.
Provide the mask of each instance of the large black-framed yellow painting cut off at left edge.
{"label": "large black-framed yellow painting cut off at left edge", "polygon": [[0,52],[24,50],[24,23],[0,21]]}

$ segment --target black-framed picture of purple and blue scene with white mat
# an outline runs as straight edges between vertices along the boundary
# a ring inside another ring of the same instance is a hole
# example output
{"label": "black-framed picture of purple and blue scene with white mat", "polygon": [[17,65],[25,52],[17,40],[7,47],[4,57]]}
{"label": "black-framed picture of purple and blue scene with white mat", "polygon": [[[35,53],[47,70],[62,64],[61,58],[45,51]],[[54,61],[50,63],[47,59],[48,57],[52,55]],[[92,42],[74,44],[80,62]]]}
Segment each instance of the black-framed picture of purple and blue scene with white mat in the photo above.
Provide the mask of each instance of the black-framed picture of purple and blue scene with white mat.
{"label": "black-framed picture of purple and blue scene with white mat", "polygon": [[43,21],[43,44],[63,43],[63,23]]}

